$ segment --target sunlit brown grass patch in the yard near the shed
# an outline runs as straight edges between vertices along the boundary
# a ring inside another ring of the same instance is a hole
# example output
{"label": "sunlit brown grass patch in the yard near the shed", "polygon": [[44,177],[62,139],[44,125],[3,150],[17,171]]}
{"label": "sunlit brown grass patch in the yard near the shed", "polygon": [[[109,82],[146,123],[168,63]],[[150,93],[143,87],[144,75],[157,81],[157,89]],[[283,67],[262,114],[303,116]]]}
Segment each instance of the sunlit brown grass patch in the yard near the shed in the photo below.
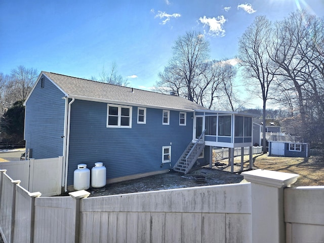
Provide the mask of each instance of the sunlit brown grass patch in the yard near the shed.
{"label": "sunlit brown grass patch in the yard near the shed", "polygon": [[[234,163],[240,163],[240,157],[234,158]],[[253,168],[270,171],[299,174],[293,187],[297,186],[324,186],[324,160],[318,156],[281,157],[267,154],[253,155]],[[249,155],[244,156],[244,166],[249,167]]]}

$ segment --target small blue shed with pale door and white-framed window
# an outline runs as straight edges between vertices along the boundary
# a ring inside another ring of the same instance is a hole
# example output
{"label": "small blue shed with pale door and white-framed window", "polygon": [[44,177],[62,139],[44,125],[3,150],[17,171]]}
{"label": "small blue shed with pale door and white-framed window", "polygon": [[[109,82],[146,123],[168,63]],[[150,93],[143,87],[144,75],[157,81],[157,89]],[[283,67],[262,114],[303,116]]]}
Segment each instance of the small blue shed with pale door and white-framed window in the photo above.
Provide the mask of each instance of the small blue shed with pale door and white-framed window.
{"label": "small blue shed with pale door and white-framed window", "polygon": [[308,157],[308,144],[303,143],[298,136],[271,135],[268,142],[269,156]]}

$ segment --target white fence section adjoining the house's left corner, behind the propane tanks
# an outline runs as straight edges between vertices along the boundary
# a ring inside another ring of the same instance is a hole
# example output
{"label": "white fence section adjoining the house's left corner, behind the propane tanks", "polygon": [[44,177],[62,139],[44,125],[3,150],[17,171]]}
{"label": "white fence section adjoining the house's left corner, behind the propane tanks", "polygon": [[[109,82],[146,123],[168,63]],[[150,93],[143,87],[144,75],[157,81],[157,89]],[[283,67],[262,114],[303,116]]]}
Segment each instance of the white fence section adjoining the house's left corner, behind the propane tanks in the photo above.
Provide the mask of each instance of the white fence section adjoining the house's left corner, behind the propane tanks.
{"label": "white fence section adjoining the house's left corner, behind the propane tanks", "polygon": [[7,170],[14,180],[28,191],[41,191],[43,196],[61,194],[63,157],[44,158],[0,163],[0,170]]}

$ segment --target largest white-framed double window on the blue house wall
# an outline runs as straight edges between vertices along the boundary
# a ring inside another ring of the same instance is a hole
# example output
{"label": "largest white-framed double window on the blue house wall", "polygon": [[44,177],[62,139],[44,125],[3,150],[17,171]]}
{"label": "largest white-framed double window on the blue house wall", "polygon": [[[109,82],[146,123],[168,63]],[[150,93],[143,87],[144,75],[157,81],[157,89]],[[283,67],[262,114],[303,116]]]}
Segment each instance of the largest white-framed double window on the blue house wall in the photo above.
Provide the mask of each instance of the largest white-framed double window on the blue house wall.
{"label": "largest white-framed double window on the blue house wall", "polygon": [[132,107],[108,105],[107,128],[132,128]]}

